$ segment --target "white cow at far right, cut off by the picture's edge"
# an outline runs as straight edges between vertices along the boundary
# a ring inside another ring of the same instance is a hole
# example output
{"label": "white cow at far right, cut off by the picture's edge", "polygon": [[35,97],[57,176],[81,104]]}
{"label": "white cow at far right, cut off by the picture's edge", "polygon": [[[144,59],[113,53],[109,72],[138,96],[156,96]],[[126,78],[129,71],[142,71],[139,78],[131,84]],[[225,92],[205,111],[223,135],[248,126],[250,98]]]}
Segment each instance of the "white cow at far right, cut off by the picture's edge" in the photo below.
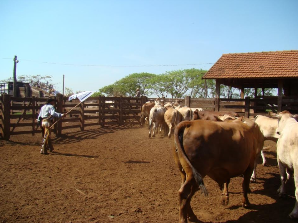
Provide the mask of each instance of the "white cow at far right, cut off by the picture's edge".
{"label": "white cow at far right, cut off by the picture's edge", "polygon": [[296,203],[290,218],[298,218],[298,115],[288,111],[280,114],[269,112],[270,116],[279,119],[276,133],[280,134],[277,141],[277,163],[280,169],[281,186],[277,190],[280,196],[285,195],[285,182],[289,179],[287,172],[294,172]]}

